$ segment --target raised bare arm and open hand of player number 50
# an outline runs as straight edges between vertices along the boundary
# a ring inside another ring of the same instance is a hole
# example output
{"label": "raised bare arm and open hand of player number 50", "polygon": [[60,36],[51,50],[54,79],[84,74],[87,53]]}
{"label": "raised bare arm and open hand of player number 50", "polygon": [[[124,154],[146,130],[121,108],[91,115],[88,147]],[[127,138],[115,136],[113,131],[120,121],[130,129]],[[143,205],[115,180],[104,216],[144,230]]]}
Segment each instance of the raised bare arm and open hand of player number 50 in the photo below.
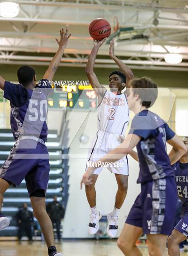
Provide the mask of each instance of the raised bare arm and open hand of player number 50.
{"label": "raised bare arm and open hand of player number 50", "polygon": [[56,41],[59,45],[59,48],[58,48],[54,58],[52,58],[51,63],[50,63],[47,71],[45,72],[45,74],[43,76],[43,79],[47,79],[47,80],[52,80],[53,79],[53,77],[56,73],[56,70],[57,70],[57,68],[60,64],[61,58],[62,58],[63,53],[64,53],[64,49],[67,46],[68,39],[69,39],[70,36],[71,36],[71,33],[68,35],[68,28],[66,29],[65,34],[64,34],[64,29],[63,28],[60,30],[60,40],[58,40],[56,38]]}

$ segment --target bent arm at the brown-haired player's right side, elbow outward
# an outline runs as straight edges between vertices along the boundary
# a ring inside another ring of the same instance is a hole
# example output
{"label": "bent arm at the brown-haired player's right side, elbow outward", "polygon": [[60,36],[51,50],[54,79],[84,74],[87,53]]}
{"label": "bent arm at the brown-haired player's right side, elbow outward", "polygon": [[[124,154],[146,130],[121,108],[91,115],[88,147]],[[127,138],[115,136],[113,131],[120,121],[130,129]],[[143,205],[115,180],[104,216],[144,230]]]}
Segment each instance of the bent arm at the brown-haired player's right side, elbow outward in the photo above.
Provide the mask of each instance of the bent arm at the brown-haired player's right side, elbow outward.
{"label": "bent arm at the brown-haired player's right side, elbow outward", "polygon": [[172,165],[187,152],[187,148],[177,135],[167,140],[167,143],[172,146],[171,152],[168,154]]}

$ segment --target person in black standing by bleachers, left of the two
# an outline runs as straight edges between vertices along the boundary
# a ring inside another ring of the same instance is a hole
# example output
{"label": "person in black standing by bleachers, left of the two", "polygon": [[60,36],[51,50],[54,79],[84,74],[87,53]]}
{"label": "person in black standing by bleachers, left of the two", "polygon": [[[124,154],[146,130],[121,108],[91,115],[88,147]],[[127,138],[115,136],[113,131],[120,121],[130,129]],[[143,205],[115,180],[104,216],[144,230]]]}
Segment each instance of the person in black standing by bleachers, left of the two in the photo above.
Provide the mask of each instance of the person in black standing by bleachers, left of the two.
{"label": "person in black standing by bleachers, left of the two", "polygon": [[21,240],[24,231],[29,241],[32,241],[32,223],[33,223],[33,213],[28,210],[27,204],[23,203],[22,207],[17,212],[17,222],[18,222],[18,240]]}

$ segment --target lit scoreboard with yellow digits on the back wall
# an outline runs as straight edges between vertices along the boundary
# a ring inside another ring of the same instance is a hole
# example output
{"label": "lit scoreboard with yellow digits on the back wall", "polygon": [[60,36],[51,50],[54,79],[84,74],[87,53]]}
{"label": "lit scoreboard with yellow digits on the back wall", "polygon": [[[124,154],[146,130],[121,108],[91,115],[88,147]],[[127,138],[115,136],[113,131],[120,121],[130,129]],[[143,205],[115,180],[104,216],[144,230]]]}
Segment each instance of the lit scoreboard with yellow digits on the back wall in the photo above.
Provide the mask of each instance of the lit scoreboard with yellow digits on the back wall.
{"label": "lit scoreboard with yellow digits on the back wall", "polygon": [[91,85],[60,85],[48,96],[49,108],[66,110],[97,108],[97,95]]}

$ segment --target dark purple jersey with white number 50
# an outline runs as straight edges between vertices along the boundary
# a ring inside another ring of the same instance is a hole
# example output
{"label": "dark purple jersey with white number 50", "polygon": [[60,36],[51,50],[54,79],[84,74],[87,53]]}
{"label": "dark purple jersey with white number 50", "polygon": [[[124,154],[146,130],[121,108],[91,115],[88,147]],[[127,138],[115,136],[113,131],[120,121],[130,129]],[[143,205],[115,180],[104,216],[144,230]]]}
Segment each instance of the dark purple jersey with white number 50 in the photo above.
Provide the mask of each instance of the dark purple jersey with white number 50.
{"label": "dark purple jersey with white number 50", "polygon": [[10,124],[15,140],[24,135],[47,141],[47,95],[50,92],[51,85],[44,79],[34,90],[5,81],[4,98],[10,101]]}

